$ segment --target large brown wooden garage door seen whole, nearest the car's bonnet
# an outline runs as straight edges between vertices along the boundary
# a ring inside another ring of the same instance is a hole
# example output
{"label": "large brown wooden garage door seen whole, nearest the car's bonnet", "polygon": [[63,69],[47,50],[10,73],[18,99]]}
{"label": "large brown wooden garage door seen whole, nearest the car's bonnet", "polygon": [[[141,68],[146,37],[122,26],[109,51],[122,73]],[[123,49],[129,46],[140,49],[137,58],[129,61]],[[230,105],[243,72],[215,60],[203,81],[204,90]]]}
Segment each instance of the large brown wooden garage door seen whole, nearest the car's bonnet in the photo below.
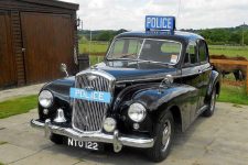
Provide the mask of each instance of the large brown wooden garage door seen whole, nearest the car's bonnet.
{"label": "large brown wooden garage door seen whole, nearest the car's bonnet", "polygon": [[22,12],[21,24],[26,84],[62,77],[61,63],[74,69],[71,15]]}

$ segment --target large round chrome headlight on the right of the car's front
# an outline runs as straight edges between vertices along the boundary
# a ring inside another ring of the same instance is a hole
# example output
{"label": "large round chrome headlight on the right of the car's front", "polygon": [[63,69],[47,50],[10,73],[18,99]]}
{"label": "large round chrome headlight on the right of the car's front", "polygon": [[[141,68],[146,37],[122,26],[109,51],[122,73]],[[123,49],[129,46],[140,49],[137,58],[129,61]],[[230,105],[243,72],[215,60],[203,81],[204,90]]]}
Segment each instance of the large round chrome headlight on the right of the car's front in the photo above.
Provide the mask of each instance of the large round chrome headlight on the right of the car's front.
{"label": "large round chrome headlight on the right of the car's front", "polygon": [[132,103],[128,109],[128,116],[134,122],[141,122],[147,116],[147,109],[141,103]]}

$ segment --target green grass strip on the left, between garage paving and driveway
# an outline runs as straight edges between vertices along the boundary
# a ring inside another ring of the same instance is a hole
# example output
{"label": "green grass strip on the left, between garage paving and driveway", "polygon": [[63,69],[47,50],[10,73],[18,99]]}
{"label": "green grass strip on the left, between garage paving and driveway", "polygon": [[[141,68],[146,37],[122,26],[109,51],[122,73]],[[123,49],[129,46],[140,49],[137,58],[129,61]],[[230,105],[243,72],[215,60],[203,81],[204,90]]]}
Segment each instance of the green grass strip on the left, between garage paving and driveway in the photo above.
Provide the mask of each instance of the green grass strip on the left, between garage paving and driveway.
{"label": "green grass strip on the left, between garage paving and driveway", "polygon": [[26,113],[37,107],[37,96],[28,96],[0,102],[0,119]]}

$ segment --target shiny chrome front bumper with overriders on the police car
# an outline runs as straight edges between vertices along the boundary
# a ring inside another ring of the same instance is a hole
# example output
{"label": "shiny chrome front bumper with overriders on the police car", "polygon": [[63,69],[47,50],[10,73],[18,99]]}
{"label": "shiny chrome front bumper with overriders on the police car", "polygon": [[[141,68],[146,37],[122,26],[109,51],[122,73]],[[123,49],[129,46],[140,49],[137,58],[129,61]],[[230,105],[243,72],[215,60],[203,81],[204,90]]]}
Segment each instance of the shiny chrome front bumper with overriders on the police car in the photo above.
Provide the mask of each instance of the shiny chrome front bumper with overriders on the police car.
{"label": "shiny chrome front bumper with overriders on the police car", "polygon": [[122,145],[133,146],[133,147],[152,147],[153,139],[148,138],[131,138],[131,136],[119,136],[118,130],[115,130],[114,134],[105,134],[105,133],[82,133],[72,128],[62,128],[58,125],[54,125],[51,123],[51,120],[46,120],[45,122],[40,122],[37,120],[30,121],[31,127],[36,129],[44,129],[45,136],[50,138],[51,133],[61,134],[68,138],[72,138],[77,141],[93,141],[93,142],[103,142],[103,143],[112,143],[114,151],[119,152]]}

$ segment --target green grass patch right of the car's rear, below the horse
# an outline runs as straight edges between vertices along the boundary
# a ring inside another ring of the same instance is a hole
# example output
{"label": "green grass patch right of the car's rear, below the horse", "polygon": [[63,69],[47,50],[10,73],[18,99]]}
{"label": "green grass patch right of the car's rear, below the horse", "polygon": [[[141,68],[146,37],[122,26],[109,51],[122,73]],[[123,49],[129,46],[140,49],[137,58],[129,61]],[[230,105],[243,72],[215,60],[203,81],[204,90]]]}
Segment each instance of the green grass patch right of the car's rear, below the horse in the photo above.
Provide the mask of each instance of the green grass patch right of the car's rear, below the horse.
{"label": "green grass patch right of the car's rear, below the horse", "polygon": [[217,101],[248,105],[248,95],[246,95],[245,87],[223,85]]}

